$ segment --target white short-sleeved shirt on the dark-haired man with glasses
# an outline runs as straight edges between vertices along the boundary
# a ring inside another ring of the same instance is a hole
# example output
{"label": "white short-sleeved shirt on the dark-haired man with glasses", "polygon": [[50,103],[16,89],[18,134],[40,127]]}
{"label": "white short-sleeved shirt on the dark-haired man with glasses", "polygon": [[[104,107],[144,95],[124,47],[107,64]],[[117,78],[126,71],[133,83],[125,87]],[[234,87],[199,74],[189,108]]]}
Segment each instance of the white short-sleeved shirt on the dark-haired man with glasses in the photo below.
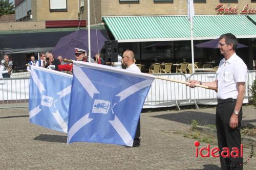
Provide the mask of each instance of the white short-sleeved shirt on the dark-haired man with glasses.
{"label": "white short-sleeved shirt on the dark-haired man with glasses", "polygon": [[234,53],[228,60],[220,61],[216,72],[218,80],[218,99],[237,99],[238,82],[246,82],[247,66],[244,61]]}

